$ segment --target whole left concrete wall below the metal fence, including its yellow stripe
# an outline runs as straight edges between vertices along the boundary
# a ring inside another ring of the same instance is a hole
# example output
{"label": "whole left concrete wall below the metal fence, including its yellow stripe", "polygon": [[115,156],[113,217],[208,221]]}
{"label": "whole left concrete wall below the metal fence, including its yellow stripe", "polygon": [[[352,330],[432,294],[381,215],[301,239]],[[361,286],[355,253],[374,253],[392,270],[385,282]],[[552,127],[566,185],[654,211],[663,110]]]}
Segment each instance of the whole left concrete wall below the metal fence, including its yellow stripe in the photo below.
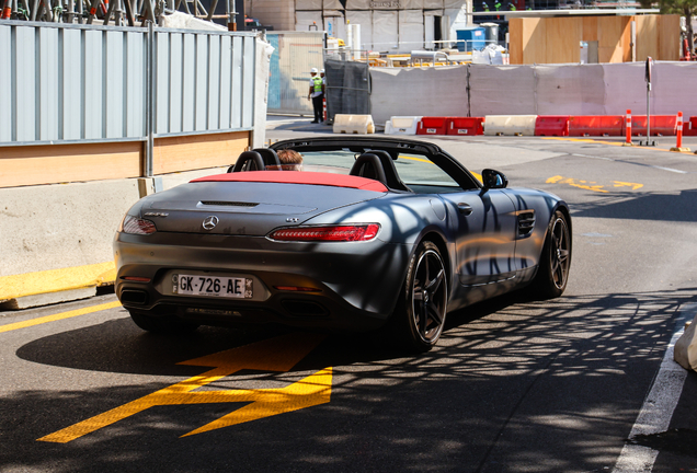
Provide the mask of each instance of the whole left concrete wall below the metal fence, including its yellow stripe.
{"label": "whole left concrete wall below the metal fence, including its yellow stripe", "polygon": [[114,281],[112,241],[130,206],[156,187],[226,171],[0,188],[0,308],[93,296]]}

